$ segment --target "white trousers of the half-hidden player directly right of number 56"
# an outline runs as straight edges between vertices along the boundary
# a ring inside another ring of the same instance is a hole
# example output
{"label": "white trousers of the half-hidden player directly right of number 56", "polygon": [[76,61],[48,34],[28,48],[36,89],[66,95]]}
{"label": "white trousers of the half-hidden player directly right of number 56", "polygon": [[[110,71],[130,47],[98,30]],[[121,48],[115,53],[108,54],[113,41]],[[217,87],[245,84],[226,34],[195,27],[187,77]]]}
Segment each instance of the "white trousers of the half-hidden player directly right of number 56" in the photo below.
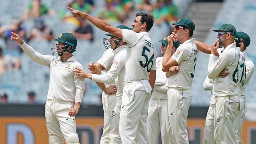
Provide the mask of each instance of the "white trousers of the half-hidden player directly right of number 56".
{"label": "white trousers of the half-hidden player directly right of number 56", "polygon": [[[158,92],[159,94],[160,92]],[[166,96],[166,92],[162,92]],[[170,144],[166,130],[167,116],[166,99],[150,98],[147,118],[148,144],[157,144],[159,132],[161,131],[162,144]]]}

